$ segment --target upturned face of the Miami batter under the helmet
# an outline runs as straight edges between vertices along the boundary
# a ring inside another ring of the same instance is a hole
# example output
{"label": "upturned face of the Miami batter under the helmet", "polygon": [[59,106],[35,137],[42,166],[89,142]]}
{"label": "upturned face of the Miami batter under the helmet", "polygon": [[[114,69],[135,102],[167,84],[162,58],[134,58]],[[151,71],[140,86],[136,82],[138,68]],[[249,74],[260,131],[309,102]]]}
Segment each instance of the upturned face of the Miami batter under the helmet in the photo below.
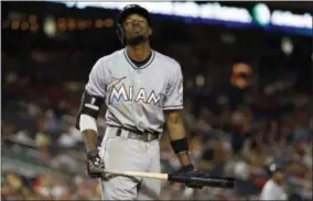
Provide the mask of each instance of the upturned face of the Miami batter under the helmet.
{"label": "upturned face of the Miami batter under the helmet", "polygon": [[142,43],[151,35],[152,30],[145,18],[130,14],[123,21],[125,37],[128,43]]}

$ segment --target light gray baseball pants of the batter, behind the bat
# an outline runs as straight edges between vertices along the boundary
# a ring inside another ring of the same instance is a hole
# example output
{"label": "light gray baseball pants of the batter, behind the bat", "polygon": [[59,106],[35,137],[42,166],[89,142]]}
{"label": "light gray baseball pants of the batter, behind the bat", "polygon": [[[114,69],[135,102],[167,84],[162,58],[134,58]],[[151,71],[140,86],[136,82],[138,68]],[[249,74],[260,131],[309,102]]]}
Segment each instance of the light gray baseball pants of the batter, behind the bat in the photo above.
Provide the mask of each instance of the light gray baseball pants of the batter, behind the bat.
{"label": "light gray baseball pants of the batter, behind the bat", "polygon": [[[108,126],[100,146],[100,157],[108,170],[161,172],[159,139],[143,142],[128,138],[129,131]],[[158,200],[161,181],[117,176],[100,179],[102,200]]]}

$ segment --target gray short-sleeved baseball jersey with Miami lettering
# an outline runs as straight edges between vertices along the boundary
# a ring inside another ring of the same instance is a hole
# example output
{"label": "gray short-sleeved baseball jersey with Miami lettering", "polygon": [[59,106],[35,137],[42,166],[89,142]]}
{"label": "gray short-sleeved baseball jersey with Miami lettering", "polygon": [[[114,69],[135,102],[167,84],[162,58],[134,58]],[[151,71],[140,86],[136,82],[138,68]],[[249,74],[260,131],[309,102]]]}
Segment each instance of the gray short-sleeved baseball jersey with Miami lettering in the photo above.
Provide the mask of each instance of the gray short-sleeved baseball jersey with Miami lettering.
{"label": "gray short-sleeved baseball jersey with Miami lettering", "polygon": [[152,51],[150,60],[137,67],[126,49],[97,60],[86,90],[102,97],[108,125],[162,132],[164,110],[183,108],[183,76],[174,59]]}

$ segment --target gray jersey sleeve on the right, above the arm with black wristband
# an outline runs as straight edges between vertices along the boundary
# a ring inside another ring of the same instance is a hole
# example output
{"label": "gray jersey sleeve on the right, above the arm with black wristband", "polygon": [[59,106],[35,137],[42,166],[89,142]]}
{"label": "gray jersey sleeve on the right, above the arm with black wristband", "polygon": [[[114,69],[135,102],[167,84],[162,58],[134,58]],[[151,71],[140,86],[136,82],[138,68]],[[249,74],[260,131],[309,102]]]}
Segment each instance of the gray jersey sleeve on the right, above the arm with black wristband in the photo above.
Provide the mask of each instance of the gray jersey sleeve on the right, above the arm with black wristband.
{"label": "gray jersey sleeve on the right, above the arm with black wristband", "polygon": [[181,66],[170,76],[163,110],[181,110],[183,109],[183,75]]}

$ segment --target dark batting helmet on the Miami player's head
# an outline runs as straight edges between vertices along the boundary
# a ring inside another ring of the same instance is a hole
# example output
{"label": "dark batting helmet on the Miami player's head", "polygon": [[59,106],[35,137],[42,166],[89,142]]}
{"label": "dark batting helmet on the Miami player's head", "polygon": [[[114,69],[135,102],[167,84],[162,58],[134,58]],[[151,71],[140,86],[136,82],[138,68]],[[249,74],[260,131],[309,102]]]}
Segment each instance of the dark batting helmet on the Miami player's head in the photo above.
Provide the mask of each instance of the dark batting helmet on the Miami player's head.
{"label": "dark batting helmet on the Miami player's head", "polygon": [[130,14],[139,14],[139,15],[145,18],[147,21],[148,21],[148,24],[150,25],[150,15],[149,15],[148,10],[145,10],[144,8],[142,8],[138,4],[126,5],[122,9],[122,11],[118,14],[118,19],[117,19],[117,34],[118,34],[120,42],[123,45],[126,44],[126,38],[125,38],[122,22]]}

